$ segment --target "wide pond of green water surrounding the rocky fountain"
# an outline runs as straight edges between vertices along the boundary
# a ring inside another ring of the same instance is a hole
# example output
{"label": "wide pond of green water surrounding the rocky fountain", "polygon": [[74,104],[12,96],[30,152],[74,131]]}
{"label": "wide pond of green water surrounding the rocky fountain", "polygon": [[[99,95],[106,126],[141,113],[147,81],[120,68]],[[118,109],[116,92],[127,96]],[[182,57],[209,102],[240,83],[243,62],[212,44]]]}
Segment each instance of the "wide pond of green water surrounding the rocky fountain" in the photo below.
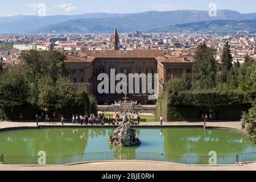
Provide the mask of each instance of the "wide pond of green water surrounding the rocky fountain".
{"label": "wide pond of green water surrounding the rocky fountain", "polygon": [[169,128],[136,129],[141,146],[113,147],[108,138],[114,129],[28,129],[0,132],[0,154],[63,156],[88,152],[155,152],[174,155],[208,156],[256,152],[254,143],[234,131]]}

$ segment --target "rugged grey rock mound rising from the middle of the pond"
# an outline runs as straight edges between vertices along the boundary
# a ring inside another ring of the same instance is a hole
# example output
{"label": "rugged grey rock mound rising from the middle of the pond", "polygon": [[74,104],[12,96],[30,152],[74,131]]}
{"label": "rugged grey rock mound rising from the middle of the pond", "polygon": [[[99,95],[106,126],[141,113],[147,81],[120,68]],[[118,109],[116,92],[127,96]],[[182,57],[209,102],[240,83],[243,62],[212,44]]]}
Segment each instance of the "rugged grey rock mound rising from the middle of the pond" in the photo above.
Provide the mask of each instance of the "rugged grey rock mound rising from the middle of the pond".
{"label": "rugged grey rock mound rising from the middle of the pond", "polygon": [[114,130],[113,136],[109,137],[109,144],[119,147],[137,146],[141,144],[141,140],[136,138],[136,131],[131,129],[129,123],[124,123]]}

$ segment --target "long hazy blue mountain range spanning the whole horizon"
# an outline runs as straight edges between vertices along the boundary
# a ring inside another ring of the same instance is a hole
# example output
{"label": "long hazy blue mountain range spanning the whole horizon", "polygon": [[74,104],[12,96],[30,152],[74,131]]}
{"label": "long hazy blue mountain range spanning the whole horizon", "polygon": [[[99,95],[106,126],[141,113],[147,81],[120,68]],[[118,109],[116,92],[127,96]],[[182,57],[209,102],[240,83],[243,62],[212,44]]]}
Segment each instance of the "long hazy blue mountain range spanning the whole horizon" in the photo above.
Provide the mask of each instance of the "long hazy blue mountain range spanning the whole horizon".
{"label": "long hazy blue mountain range spanning the whole horizon", "polygon": [[218,10],[216,17],[210,17],[208,11],[177,10],[147,11],[133,14],[92,13],[82,15],[56,16],[10,16],[0,17],[0,33],[85,33],[131,32],[135,29],[146,31],[175,24],[212,20],[256,19],[256,13],[241,14],[232,10]]}

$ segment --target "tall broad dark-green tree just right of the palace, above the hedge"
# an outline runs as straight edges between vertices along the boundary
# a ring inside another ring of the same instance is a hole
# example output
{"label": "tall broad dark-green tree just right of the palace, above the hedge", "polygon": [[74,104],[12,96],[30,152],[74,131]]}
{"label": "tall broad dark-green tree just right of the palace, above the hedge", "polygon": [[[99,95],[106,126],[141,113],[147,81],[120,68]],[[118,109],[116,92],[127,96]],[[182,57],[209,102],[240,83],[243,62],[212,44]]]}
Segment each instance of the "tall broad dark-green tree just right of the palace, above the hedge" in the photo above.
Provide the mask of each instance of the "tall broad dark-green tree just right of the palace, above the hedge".
{"label": "tall broad dark-green tree just right of the palace, above the hedge", "polygon": [[215,51],[205,43],[200,44],[195,52],[192,71],[193,89],[212,89],[216,85]]}

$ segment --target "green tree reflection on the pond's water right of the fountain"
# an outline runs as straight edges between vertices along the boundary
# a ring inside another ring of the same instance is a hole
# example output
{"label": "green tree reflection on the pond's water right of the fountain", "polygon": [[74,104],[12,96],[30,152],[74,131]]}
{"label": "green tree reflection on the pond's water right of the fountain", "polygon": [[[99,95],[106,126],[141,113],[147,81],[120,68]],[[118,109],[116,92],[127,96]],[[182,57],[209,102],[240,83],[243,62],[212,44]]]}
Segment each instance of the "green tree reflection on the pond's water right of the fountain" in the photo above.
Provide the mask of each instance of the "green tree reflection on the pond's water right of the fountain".
{"label": "green tree reflection on the pond's water right of the fountain", "polygon": [[244,135],[228,131],[166,129],[163,135],[166,154],[207,156],[209,151],[216,151],[217,155],[229,155],[251,146]]}

